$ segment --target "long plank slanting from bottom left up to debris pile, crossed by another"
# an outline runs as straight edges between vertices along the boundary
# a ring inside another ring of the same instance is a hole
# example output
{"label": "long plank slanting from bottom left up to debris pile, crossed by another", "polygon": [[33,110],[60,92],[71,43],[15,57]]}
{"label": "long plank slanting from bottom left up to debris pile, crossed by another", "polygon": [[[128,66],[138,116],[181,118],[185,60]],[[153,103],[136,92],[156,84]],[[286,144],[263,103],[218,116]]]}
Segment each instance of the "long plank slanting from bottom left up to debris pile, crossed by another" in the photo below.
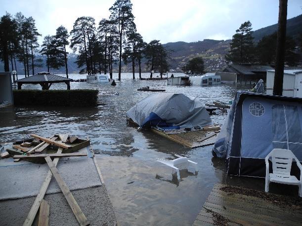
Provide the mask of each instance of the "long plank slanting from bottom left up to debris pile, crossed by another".
{"label": "long plank slanting from bottom left up to debris pile, crossed by another", "polygon": [[[58,151],[57,151],[57,154],[59,153],[62,153],[63,151],[63,148],[59,148]],[[58,161],[59,161],[60,158],[54,158],[53,159],[53,164],[54,166],[56,166],[58,164]],[[39,207],[40,207],[40,203],[46,193],[46,190],[48,188],[48,185],[51,181],[51,178],[52,178],[52,173],[50,170],[48,170],[47,172],[47,175],[44,179],[44,182],[39,190],[39,193],[34,201],[34,204],[32,205],[32,208],[30,209],[26,219],[25,219],[25,222],[23,224],[23,226],[31,226],[35,220],[35,217],[37,215],[37,212],[39,210]]]}

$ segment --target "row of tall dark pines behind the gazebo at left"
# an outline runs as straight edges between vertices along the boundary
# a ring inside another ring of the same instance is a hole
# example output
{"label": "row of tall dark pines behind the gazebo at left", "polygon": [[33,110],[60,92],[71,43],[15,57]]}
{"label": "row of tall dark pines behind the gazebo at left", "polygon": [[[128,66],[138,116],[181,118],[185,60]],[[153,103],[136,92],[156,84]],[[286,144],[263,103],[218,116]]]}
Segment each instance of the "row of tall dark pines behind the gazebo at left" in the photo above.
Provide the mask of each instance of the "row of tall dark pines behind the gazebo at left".
{"label": "row of tall dark pines behind the gazebo at left", "polygon": [[135,66],[141,77],[141,63],[145,58],[147,69],[158,71],[162,77],[169,69],[169,51],[159,40],[144,42],[136,31],[131,1],[116,0],[109,11],[109,18],[101,19],[98,24],[92,17],[79,17],[70,33],[65,27],[58,27],[54,36],[44,37],[41,47],[38,43],[41,34],[32,17],[26,18],[21,12],[15,16],[6,13],[0,19],[0,60],[4,62],[4,71],[16,70],[17,60],[24,64],[25,76],[30,71],[34,75],[35,68],[42,66],[43,60],[35,57],[40,52],[46,57],[48,72],[51,68],[65,67],[68,77],[66,48],[70,46],[78,54],[76,63],[80,74],[103,72],[112,78],[113,65],[119,64],[120,80],[123,61],[131,64],[134,79]]}

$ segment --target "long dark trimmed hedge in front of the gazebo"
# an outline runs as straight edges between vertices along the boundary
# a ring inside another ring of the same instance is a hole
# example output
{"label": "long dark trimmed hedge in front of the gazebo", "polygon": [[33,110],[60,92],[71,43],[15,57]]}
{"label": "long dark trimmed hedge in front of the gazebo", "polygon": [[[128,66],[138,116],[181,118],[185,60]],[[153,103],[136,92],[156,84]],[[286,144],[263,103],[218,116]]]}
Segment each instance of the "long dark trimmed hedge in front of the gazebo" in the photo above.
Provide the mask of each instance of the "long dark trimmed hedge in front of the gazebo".
{"label": "long dark trimmed hedge in front of the gazebo", "polygon": [[15,105],[42,105],[42,106],[97,106],[98,90],[13,90]]}

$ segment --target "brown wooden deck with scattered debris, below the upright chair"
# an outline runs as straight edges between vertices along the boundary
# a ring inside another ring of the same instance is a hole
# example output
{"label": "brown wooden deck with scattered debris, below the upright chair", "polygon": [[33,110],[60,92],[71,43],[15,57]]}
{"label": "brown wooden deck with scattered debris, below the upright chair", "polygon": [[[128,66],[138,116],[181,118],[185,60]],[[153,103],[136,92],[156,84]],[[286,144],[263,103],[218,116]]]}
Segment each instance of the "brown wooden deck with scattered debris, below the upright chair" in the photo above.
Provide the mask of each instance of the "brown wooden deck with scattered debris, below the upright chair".
{"label": "brown wooden deck with scattered debris, below the upright chair", "polygon": [[193,224],[194,226],[301,226],[302,224],[301,206],[277,205],[272,201],[264,201],[262,198],[255,196],[224,192],[220,190],[222,187],[225,187],[225,185],[216,184],[214,186],[202,210],[198,214]]}

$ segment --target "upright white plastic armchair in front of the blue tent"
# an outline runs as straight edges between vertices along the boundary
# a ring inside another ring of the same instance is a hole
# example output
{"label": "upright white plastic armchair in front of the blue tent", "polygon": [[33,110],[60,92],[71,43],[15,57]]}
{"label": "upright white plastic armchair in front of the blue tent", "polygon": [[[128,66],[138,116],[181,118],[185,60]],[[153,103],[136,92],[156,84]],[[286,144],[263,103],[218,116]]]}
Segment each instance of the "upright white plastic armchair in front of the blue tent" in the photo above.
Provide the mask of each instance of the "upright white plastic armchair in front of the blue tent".
{"label": "upright white plastic armchair in front of the blue tent", "polygon": [[[271,157],[273,173],[269,173],[269,157]],[[297,166],[300,169],[300,181],[295,176],[291,175],[293,159],[295,159]],[[292,151],[287,149],[273,149],[265,157],[265,166],[265,192],[268,192],[270,182],[286,185],[298,185],[299,196],[302,197],[302,165]]]}

